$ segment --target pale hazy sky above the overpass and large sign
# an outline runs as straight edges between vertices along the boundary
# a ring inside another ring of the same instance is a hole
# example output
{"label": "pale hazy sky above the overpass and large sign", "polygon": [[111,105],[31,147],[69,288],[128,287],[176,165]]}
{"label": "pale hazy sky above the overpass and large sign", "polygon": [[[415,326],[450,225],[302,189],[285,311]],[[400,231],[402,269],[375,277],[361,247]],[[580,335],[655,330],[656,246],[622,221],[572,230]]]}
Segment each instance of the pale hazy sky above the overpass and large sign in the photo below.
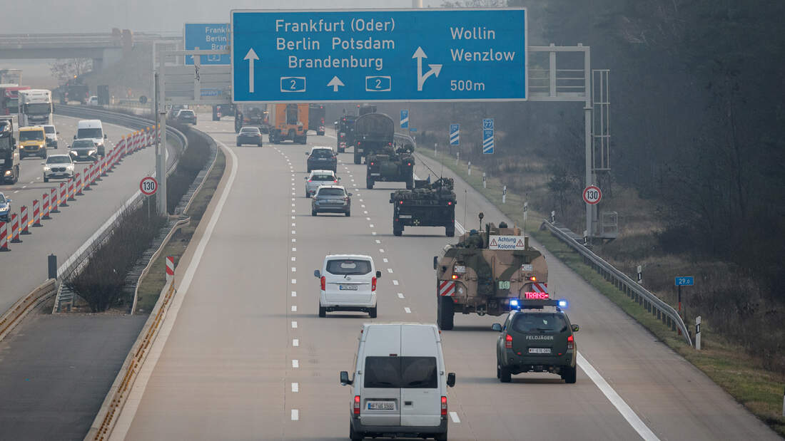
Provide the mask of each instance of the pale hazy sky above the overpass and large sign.
{"label": "pale hazy sky above the overpass and large sign", "polygon": [[[438,6],[441,0],[423,0]],[[409,8],[411,0],[35,0],[0,14],[0,34],[132,31],[182,32],[185,22],[228,22],[232,9]]]}

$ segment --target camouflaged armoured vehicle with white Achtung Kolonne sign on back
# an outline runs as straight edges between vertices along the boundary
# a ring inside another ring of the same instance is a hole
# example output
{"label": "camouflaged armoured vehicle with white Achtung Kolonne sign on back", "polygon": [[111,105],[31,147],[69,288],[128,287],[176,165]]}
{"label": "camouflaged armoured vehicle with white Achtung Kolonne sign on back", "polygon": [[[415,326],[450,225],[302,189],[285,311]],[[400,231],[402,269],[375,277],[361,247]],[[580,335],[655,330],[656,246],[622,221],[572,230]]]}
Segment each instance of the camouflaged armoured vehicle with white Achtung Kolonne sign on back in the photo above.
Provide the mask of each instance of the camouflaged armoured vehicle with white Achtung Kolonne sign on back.
{"label": "camouflaged armoured vehicle with white Achtung Kolonne sign on back", "polygon": [[519,228],[504,223],[463,234],[434,256],[433,269],[436,324],[443,330],[452,329],[455,313],[500,316],[517,309],[521,299],[548,298],[545,257]]}

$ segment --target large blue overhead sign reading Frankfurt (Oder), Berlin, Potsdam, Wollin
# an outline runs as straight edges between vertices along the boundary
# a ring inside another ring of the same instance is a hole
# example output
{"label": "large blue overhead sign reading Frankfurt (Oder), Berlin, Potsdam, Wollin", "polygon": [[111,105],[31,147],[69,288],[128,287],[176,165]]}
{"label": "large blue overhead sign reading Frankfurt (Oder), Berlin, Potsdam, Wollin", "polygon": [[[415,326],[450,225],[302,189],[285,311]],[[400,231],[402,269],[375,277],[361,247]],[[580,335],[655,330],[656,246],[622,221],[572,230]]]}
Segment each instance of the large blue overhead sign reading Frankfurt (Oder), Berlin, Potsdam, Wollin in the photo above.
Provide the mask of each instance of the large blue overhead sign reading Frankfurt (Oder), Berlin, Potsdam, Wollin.
{"label": "large blue overhead sign reading Frankfurt (Oder), Berlin, Potsdam, Wollin", "polygon": [[235,103],[527,99],[524,8],[230,17]]}

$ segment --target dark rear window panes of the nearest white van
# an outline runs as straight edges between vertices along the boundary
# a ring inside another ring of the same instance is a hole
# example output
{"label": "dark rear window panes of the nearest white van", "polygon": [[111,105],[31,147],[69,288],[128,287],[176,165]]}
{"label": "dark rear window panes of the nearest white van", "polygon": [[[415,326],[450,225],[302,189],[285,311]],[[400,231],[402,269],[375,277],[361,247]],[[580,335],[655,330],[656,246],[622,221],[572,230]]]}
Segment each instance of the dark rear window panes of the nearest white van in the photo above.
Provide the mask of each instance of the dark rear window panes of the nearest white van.
{"label": "dark rear window panes of the nearest white van", "polygon": [[367,388],[436,389],[436,357],[368,356],[365,357]]}

